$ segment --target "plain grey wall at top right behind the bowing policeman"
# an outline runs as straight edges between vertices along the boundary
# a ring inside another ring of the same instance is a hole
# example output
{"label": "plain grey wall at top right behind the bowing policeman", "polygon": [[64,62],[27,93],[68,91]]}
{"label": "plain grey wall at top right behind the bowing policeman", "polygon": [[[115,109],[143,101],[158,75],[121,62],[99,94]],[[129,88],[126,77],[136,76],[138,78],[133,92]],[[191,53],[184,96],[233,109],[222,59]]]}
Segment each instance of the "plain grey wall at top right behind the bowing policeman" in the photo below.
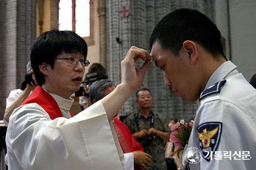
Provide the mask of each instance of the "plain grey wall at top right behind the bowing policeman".
{"label": "plain grey wall at top right behind the bowing policeman", "polygon": [[[232,61],[247,81],[256,74],[256,2],[230,2],[230,33]],[[232,3],[231,3],[232,2]]]}

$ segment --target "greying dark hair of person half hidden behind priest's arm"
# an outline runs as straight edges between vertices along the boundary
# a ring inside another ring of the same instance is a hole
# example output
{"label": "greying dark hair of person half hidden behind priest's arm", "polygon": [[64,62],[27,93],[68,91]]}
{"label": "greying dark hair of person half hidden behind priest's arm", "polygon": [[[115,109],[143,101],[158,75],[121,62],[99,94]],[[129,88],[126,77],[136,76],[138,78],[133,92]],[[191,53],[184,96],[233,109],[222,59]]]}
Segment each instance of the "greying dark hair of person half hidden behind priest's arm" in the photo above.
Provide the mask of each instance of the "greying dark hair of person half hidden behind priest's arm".
{"label": "greying dark hair of person half hidden behind priest's arm", "polygon": [[89,96],[90,96],[91,103],[93,103],[93,99],[97,101],[102,99],[105,89],[107,89],[110,86],[115,86],[115,84],[110,80],[102,79],[102,80],[93,82],[93,84],[90,86],[90,89],[89,89]]}

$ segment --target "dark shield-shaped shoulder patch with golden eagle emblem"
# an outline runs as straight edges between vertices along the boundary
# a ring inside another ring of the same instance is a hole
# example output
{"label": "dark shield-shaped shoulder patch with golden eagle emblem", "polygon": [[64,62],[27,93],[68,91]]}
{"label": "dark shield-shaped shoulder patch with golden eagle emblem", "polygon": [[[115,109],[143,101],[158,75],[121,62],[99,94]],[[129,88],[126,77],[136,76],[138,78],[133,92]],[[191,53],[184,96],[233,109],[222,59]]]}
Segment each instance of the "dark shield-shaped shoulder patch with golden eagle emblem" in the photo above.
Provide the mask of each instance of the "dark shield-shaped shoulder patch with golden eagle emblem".
{"label": "dark shield-shaped shoulder patch with golden eagle emblem", "polygon": [[197,128],[199,149],[207,161],[210,160],[210,154],[208,153],[212,151],[212,154],[214,154],[218,147],[221,130],[222,123],[220,122],[207,122],[199,125]]}

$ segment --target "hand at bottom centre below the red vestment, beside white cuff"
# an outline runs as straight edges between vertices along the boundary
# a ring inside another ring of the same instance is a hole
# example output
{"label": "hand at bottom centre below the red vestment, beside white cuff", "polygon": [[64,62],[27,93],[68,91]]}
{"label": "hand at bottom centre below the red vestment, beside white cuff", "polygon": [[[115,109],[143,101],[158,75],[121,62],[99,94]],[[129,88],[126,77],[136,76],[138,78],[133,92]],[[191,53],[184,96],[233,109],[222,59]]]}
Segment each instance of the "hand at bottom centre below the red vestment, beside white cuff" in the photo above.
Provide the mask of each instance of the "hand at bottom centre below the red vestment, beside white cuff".
{"label": "hand at bottom centre below the red vestment, beside white cuff", "polygon": [[144,169],[147,169],[148,165],[151,165],[151,156],[147,153],[141,152],[141,151],[134,151],[134,163],[141,166]]}

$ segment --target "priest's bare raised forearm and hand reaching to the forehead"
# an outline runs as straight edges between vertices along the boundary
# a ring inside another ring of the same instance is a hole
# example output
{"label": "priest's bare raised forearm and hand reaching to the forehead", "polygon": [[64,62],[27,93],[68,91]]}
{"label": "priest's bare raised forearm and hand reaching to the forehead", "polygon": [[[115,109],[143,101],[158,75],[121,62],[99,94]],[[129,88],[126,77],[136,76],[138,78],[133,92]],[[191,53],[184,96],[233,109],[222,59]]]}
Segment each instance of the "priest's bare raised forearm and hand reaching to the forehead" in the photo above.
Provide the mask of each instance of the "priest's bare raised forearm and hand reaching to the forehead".
{"label": "priest's bare raised forearm and hand reaching to the forehead", "polygon": [[[135,62],[141,58],[144,63],[140,68],[135,67]],[[142,84],[147,69],[150,67],[150,54],[138,47],[132,46],[126,57],[121,62],[122,81],[114,91],[101,100],[109,120],[122,107],[124,102]]]}

